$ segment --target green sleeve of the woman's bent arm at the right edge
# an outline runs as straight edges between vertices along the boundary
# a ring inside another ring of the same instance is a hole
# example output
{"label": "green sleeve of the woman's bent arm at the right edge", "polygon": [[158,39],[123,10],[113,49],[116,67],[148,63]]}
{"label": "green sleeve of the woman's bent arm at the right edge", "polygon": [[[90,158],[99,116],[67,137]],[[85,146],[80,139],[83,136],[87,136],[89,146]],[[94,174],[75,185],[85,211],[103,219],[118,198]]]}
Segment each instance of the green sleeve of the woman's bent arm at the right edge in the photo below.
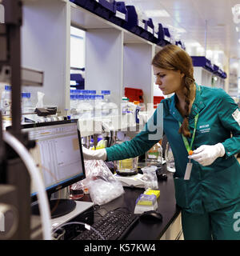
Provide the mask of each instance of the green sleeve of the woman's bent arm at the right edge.
{"label": "green sleeve of the woman's bent arm at the right edge", "polygon": [[225,147],[226,158],[240,152],[240,112],[238,105],[224,90],[220,90],[218,101],[218,117],[227,130],[231,131],[232,137],[222,142]]}

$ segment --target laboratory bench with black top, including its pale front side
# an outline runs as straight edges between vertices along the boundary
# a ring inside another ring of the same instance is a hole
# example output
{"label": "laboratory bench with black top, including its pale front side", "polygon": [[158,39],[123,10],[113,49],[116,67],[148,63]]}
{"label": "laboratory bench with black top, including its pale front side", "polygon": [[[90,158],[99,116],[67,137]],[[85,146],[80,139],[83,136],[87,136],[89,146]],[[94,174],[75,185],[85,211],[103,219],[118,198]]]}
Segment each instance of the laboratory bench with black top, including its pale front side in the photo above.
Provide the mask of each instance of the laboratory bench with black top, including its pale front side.
{"label": "laboratory bench with black top, including its pale front side", "polygon": [[[162,214],[162,222],[145,219],[139,220],[125,240],[176,240],[182,239],[181,210],[176,205],[174,194],[173,173],[166,171],[163,165],[162,172],[167,175],[166,181],[158,181],[160,197],[157,199],[157,211]],[[144,189],[124,187],[125,193],[108,202],[96,211],[102,215],[110,210],[128,210],[134,213],[136,199],[144,192]],[[89,202],[90,195],[86,194],[82,201]],[[100,214],[94,214],[94,221],[98,221]]]}

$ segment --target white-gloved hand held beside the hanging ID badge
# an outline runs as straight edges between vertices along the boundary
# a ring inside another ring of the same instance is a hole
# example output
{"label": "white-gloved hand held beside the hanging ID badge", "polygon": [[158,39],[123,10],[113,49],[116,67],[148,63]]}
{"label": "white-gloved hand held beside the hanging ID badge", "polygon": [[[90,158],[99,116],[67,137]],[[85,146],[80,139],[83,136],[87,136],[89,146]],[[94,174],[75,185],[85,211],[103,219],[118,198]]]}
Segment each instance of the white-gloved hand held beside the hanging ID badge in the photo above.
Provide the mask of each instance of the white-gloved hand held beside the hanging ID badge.
{"label": "white-gloved hand held beside the hanging ID badge", "polygon": [[188,158],[194,159],[199,162],[202,166],[210,166],[217,158],[223,157],[225,154],[225,148],[222,143],[210,145],[202,145],[194,150],[194,154]]}

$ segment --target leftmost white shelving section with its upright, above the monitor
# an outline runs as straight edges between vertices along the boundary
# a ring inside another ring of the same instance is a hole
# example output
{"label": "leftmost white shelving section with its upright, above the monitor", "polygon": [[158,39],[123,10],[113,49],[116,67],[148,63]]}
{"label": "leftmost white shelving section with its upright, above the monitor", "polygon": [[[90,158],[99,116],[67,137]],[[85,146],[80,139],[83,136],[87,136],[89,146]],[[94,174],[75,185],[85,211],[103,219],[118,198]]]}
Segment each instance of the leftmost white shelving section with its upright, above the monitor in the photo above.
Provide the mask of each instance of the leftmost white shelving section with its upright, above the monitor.
{"label": "leftmost white shelving section with its upright, above the monitor", "polygon": [[45,105],[58,106],[62,113],[70,98],[68,6],[69,2],[60,0],[29,0],[22,8],[22,66],[44,71],[44,86],[27,90],[41,90]]}

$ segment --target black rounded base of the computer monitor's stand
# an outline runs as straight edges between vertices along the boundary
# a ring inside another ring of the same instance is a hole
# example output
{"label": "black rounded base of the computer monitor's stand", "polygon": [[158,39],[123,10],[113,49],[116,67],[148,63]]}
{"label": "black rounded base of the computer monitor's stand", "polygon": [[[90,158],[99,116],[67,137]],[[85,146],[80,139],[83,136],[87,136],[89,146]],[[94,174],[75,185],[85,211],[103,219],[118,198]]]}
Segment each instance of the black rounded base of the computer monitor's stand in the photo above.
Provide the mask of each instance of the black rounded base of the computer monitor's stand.
{"label": "black rounded base of the computer monitor's stand", "polygon": [[[76,202],[71,199],[50,199],[51,218],[58,218],[65,214],[69,214],[76,207]],[[32,214],[40,215],[38,202],[31,205]]]}

